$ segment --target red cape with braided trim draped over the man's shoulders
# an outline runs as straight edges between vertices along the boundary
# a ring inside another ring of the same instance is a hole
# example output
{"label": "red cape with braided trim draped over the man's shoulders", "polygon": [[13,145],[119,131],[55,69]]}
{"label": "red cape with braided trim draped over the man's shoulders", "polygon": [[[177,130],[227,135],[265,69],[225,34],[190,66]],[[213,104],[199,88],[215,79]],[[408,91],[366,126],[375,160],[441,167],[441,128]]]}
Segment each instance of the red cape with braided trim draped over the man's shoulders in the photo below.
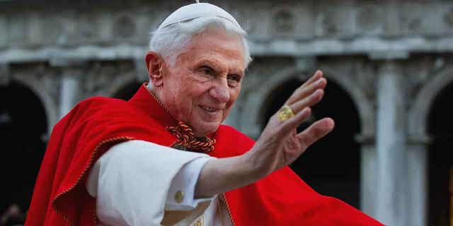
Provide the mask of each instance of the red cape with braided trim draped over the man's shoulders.
{"label": "red cape with braided trim draped over the man's shoulders", "polygon": [[[112,145],[142,140],[171,146],[171,118],[142,85],[128,102],[93,97],[55,125],[25,225],[96,225],[96,199],[86,176]],[[254,144],[230,126],[220,126],[215,157],[241,155]],[[382,225],[336,198],[321,196],[289,167],[241,189],[226,192],[234,225]]]}

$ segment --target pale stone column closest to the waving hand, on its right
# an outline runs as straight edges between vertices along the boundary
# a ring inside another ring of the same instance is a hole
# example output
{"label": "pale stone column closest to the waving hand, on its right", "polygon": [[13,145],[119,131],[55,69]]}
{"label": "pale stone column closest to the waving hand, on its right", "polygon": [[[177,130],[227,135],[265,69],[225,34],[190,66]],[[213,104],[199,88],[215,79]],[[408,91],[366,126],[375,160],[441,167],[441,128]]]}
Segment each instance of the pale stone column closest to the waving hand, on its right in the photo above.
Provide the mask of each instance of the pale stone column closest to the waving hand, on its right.
{"label": "pale stone column closest to the waving hand, on its right", "polygon": [[377,83],[377,179],[374,216],[406,224],[405,85],[396,61],[384,61]]}

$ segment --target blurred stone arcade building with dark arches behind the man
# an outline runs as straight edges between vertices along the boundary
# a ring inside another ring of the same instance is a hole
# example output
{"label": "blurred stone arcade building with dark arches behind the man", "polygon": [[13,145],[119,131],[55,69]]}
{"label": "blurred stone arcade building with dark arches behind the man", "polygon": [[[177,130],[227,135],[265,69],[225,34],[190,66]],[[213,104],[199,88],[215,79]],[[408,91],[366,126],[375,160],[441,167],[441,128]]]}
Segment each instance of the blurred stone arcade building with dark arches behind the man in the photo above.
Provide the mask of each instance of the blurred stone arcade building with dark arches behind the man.
{"label": "blurred stone arcade building with dark arches behind the man", "polygon": [[[248,31],[253,62],[225,123],[258,138],[316,69],[336,129],[292,164],[386,225],[453,225],[453,1],[205,1]],[[0,225],[21,225],[52,126],[147,81],[149,32],[193,1],[0,0]],[[70,204],[70,203],[68,203]]]}

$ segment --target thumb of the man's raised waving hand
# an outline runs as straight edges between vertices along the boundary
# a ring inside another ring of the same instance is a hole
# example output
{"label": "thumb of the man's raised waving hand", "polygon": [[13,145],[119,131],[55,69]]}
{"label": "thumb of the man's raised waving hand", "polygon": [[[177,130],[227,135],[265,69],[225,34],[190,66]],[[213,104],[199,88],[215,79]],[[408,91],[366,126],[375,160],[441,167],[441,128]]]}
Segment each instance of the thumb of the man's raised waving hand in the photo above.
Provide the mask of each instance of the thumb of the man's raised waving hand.
{"label": "thumb of the man's raised waving hand", "polygon": [[297,134],[299,142],[304,149],[318,141],[319,139],[326,136],[333,130],[335,123],[331,118],[324,118],[319,121],[315,121],[309,128]]}

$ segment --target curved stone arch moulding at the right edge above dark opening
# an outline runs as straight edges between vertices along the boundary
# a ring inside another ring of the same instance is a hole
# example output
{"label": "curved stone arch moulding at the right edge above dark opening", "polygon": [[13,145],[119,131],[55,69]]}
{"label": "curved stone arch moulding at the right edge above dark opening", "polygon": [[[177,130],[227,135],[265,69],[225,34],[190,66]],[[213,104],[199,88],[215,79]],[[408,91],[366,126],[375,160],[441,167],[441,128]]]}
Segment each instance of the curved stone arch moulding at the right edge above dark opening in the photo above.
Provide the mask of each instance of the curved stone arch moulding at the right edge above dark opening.
{"label": "curved stone arch moulding at the right edge above dark opening", "polygon": [[417,139],[423,139],[428,134],[428,117],[435,97],[449,83],[453,82],[453,68],[440,71],[428,84],[423,85],[415,96],[408,114],[408,133]]}

